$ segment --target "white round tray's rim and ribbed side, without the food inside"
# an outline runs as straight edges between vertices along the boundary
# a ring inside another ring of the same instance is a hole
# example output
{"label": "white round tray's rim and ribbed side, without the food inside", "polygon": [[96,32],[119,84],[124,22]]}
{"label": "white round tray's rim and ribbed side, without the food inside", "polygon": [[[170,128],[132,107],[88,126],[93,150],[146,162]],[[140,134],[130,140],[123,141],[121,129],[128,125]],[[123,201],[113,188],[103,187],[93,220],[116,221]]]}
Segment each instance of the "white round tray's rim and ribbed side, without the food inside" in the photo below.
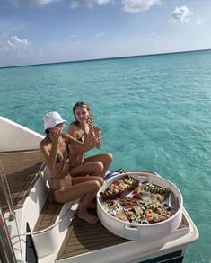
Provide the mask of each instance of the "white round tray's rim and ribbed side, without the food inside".
{"label": "white round tray's rim and ribbed side, without the food inside", "polygon": [[[174,204],[172,204],[172,206],[175,208],[176,213],[165,221],[154,224],[131,224],[123,222],[108,214],[102,206],[100,192],[104,192],[114,180],[119,180],[119,178],[126,174],[136,180],[139,180],[141,183],[148,180],[155,185],[170,189],[174,200]],[[177,188],[169,180],[165,180],[162,177],[157,176],[155,173],[146,171],[128,171],[116,175],[109,180],[106,180],[97,193],[97,214],[101,224],[103,224],[110,232],[132,241],[153,241],[170,235],[171,232],[174,232],[180,226],[182,207],[183,198],[179,188]]]}

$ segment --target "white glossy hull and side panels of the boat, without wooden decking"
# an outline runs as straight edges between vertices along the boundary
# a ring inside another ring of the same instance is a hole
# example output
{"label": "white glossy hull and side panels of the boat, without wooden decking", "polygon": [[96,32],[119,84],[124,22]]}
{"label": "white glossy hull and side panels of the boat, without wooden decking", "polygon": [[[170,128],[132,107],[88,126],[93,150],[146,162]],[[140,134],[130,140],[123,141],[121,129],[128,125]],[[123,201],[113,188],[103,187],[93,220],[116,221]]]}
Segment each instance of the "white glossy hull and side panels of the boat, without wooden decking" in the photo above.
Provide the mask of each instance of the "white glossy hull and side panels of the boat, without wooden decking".
{"label": "white glossy hull and side panels of the boat, without wooden decking", "polygon": [[[0,152],[36,149],[43,138],[26,127],[22,127],[11,120],[0,117]],[[4,138],[4,139],[3,139]],[[126,241],[119,245],[100,250],[92,250],[71,258],[57,260],[57,251],[64,240],[68,224],[75,216],[77,204],[66,204],[57,218],[56,224],[45,232],[26,234],[27,229],[33,230],[34,225],[44,206],[49,191],[49,173],[45,169],[40,180],[31,189],[24,206],[15,210],[15,220],[9,220],[9,213],[4,214],[5,224],[13,244],[13,252],[17,262],[31,263],[27,255],[34,257],[34,262],[96,262],[96,263],[123,263],[123,262],[165,262],[165,260],[182,260],[186,246],[198,239],[198,229],[192,222],[185,208],[182,215],[187,221],[187,227],[172,232],[158,241]],[[62,216],[65,215],[65,216]],[[60,219],[59,219],[60,218]],[[59,223],[58,223],[59,221]],[[1,235],[2,242],[5,236]],[[31,241],[31,245],[29,245]],[[1,243],[1,245],[3,242]],[[9,247],[4,248],[4,252]],[[4,256],[4,255],[3,255]],[[11,261],[12,262],[12,261]],[[170,262],[170,261],[168,261]],[[177,261],[173,261],[177,262]],[[181,262],[181,261],[178,261]]]}

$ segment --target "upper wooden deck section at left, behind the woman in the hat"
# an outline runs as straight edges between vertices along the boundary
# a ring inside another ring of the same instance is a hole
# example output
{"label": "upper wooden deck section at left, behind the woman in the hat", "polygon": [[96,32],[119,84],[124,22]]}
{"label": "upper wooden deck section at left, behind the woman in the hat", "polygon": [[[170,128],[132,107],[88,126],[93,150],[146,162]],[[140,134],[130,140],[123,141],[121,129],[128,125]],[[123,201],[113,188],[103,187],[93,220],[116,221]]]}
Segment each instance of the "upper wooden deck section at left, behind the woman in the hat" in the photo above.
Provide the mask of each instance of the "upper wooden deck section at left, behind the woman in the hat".
{"label": "upper wooden deck section at left, behind the woman in the hat", "polygon": [[[14,209],[22,207],[44,168],[43,157],[39,149],[0,153],[4,173],[11,192]],[[3,171],[2,171],[3,172]],[[0,204],[4,212],[8,211],[0,180]]]}

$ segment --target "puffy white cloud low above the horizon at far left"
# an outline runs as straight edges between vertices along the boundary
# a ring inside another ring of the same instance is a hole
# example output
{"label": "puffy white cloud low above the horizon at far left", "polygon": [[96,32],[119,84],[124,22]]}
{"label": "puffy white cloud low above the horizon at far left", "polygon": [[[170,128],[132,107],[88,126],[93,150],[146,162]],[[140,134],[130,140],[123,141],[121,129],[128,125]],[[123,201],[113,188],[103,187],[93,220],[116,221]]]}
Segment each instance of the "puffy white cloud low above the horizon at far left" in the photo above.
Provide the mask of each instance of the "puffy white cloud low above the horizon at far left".
{"label": "puffy white cloud low above the horizon at far left", "polygon": [[12,36],[10,39],[0,43],[0,53],[4,56],[29,57],[31,56],[31,42]]}

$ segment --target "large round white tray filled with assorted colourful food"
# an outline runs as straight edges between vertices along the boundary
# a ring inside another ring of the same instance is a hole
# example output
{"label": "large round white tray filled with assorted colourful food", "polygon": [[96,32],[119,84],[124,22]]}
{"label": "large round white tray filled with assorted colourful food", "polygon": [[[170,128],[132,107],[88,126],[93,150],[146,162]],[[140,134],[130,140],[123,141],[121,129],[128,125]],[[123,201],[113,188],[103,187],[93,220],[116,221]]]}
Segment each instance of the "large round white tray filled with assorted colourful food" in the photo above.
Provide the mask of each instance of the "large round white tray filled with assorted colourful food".
{"label": "large round white tray filled with assorted colourful food", "polygon": [[179,188],[154,172],[127,171],[106,180],[97,194],[97,214],[110,232],[132,241],[168,236],[180,225]]}

